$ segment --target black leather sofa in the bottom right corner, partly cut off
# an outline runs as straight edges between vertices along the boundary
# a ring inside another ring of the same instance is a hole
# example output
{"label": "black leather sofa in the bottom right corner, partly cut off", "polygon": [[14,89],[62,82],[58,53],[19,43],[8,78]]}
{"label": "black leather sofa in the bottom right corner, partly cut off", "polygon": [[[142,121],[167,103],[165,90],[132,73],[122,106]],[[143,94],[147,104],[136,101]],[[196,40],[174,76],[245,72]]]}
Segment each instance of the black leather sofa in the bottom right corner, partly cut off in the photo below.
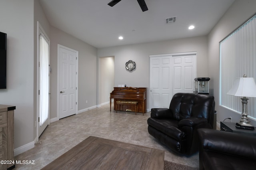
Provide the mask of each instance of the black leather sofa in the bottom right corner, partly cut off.
{"label": "black leather sofa in the bottom right corner, partly cut off", "polygon": [[256,170],[256,137],[198,129],[200,170]]}

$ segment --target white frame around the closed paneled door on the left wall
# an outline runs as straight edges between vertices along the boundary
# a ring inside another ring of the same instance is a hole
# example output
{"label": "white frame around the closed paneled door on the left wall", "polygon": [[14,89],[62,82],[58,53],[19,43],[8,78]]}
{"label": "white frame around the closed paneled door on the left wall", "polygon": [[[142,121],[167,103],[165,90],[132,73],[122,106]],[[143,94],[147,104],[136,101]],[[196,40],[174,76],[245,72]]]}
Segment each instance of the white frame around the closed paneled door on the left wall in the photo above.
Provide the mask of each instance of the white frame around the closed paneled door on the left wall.
{"label": "white frame around the closed paneled door on the left wall", "polygon": [[76,53],[76,87],[77,87],[77,90],[76,90],[76,113],[78,113],[78,51],[74,50],[74,49],[71,49],[71,48],[68,48],[68,47],[65,47],[63,45],[60,45],[58,44],[58,69],[57,69],[57,119],[59,120],[60,119],[60,82],[59,82],[59,79],[60,79],[60,48],[64,48],[64,49],[67,49],[69,51],[73,51]]}

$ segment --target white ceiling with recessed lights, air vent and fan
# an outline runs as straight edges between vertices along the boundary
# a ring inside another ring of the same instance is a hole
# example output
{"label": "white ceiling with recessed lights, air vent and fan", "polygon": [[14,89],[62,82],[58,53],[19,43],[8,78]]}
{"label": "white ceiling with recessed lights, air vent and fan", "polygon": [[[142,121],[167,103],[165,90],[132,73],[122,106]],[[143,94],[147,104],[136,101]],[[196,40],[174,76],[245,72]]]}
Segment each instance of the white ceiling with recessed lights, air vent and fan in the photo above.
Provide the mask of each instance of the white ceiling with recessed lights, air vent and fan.
{"label": "white ceiling with recessed lights, air vent and fan", "polygon": [[[207,35],[234,0],[40,0],[50,24],[94,47]],[[176,22],[165,24],[176,16]],[[194,30],[188,26],[194,25]],[[118,40],[123,36],[123,40]]]}

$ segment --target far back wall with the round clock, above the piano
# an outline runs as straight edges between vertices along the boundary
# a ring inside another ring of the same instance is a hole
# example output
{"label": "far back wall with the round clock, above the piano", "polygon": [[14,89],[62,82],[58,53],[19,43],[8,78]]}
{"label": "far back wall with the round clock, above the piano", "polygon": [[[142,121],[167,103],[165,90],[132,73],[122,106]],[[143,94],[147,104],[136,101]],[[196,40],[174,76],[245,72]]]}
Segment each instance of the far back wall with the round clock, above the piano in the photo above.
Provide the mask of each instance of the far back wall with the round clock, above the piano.
{"label": "far back wall with the round clock, above the piano", "polygon": [[[127,87],[147,87],[147,109],[149,106],[150,67],[149,55],[197,52],[197,76],[208,77],[208,39],[207,36],[184,38],[178,40],[122,45],[98,49],[98,57],[115,57],[115,83],[126,84]],[[129,72],[125,63],[135,61],[136,70]],[[101,86],[101,85],[99,85]]]}

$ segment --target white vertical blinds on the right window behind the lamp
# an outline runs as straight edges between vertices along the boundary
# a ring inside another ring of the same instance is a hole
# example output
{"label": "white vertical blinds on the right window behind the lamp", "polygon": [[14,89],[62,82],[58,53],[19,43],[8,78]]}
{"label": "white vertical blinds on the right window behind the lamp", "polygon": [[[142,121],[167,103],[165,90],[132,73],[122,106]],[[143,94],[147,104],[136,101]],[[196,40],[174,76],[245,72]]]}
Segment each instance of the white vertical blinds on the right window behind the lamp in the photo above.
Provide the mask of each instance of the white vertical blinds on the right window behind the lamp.
{"label": "white vertical blinds on the right window behind the lamp", "polygon": [[[242,112],[241,97],[227,95],[235,79],[256,79],[256,15],[220,42],[220,105]],[[246,97],[246,96],[245,96]],[[248,115],[256,118],[256,98],[248,97]]]}

